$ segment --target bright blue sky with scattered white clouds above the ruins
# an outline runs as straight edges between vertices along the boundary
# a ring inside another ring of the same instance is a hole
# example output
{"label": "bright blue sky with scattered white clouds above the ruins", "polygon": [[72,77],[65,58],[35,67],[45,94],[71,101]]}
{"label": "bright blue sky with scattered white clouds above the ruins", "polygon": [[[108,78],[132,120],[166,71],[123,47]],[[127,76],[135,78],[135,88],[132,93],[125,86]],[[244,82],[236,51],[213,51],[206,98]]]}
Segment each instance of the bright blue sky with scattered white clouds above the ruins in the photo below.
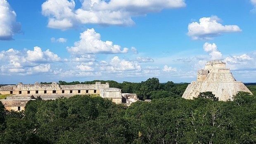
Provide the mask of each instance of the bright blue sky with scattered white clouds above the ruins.
{"label": "bright blue sky with scattered white clouds above the ruins", "polygon": [[256,0],[0,0],[0,84],[256,82]]}

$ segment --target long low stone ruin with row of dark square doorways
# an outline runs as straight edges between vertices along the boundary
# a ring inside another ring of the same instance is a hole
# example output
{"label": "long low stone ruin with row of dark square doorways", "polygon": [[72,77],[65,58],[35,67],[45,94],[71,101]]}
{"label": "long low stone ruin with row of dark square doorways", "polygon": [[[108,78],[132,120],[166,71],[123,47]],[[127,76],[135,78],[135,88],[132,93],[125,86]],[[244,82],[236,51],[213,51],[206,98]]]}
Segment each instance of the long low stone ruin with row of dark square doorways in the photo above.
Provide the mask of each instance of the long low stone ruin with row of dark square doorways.
{"label": "long low stone ruin with row of dark square doorways", "polygon": [[[117,104],[130,104],[130,97],[122,97],[121,89],[109,87],[109,83],[102,84],[78,84],[78,85],[59,85],[55,82],[52,84],[22,84],[6,85],[0,87],[0,94],[13,94],[6,99],[0,99],[7,110],[21,111],[24,110],[26,103],[40,96],[42,99],[57,99],[58,97],[72,97],[77,94],[96,94],[100,97],[111,99]],[[132,98],[137,100],[137,95]]]}

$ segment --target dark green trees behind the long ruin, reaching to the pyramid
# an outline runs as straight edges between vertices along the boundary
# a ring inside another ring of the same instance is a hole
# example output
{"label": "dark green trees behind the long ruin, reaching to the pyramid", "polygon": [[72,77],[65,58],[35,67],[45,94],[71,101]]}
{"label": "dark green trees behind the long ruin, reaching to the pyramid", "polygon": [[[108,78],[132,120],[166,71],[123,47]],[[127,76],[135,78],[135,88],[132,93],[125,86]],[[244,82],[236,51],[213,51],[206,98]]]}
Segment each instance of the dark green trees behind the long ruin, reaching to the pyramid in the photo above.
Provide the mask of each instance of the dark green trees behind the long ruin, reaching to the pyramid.
{"label": "dark green trees behind the long ruin, reaching to the pyramid", "polygon": [[122,93],[135,93],[140,100],[159,99],[172,95],[173,97],[181,97],[185,92],[188,83],[175,84],[172,81],[167,83],[159,83],[158,78],[149,78],[141,83],[131,83],[124,81],[118,83],[114,80],[93,80],[93,81],[59,81],[59,85],[76,85],[76,84],[95,84],[95,82],[109,83],[109,87],[122,89]]}

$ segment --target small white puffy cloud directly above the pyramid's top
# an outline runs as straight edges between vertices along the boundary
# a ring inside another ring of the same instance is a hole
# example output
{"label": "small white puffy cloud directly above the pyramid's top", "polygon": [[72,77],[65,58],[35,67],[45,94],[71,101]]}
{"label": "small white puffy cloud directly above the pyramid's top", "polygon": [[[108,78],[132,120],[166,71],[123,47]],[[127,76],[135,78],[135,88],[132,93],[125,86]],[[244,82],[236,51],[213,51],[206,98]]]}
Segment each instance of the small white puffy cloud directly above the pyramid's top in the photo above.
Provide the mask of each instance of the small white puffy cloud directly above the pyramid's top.
{"label": "small white puffy cloud directly above the pyramid's top", "polygon": [[209,55],[211,56],[211,60],[222,59],[222,54],[218,50],[218,47],[215,43],[211,44],[211,43],[205,42],[203,47],[204,47],[204,51],[209,53]]}

